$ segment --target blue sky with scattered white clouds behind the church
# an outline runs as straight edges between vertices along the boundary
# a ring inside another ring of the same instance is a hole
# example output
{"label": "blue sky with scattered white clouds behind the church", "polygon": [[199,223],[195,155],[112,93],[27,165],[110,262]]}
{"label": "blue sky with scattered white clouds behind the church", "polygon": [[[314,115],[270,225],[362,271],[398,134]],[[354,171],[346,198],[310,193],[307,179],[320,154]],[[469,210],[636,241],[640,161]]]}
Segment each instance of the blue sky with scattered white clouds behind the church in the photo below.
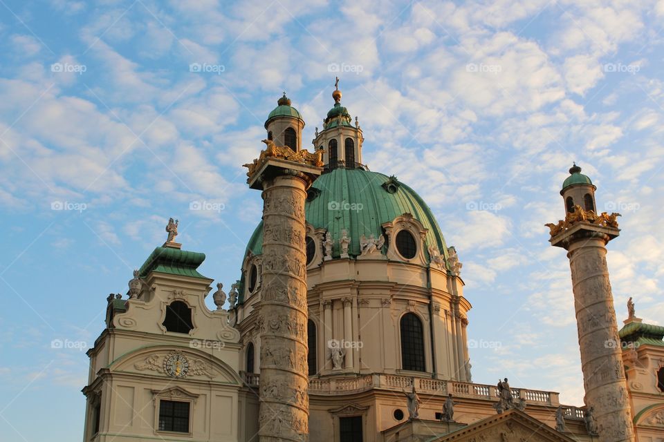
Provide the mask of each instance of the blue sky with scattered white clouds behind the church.
{"label": "blue sky with scattered white clouds behind the church", "polygon": [[282,91],[309,146],[335,76],[363,162],[459,253],[473,381],[582,405],[544,224],[577,162],[623,215],[618,323],[634,296],[663,324],[663,19],[664,0],[0,0],[0,439],[80,440],[85,350],[169,217],[201,273],[239,278],[261,215],[241,164]]}

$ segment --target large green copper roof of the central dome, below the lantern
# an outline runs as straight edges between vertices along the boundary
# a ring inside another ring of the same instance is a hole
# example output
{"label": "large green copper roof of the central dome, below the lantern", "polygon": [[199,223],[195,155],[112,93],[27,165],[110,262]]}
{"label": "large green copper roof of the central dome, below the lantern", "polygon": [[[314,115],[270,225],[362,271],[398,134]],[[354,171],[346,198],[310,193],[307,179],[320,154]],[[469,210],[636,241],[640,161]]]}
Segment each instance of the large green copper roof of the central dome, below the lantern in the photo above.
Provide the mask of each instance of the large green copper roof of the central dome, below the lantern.
{"label": "large green copper roof of the central dome, below the lantern", "polygon": [[[447,253],[445,238],[429,206],[394,177],[364,169],[335,169],[318,177],[312,189],[318,194],[304,204],[305,218],[315,229],[331,231],[336,242],[333,258],[340,256],[338,240],[342,229],[346,229],[351,238],[349,255],[358,256],[362,235],[368,238],[373,233],[378,238],[382,235],[382,223],[404,213],[411,213],[428,229],[425,247],[434,244],[441,253]],[[262,250],[261,222],[247,244],[246,253],[260,255]],[[425,255],[428,256],[428,251]]]}

